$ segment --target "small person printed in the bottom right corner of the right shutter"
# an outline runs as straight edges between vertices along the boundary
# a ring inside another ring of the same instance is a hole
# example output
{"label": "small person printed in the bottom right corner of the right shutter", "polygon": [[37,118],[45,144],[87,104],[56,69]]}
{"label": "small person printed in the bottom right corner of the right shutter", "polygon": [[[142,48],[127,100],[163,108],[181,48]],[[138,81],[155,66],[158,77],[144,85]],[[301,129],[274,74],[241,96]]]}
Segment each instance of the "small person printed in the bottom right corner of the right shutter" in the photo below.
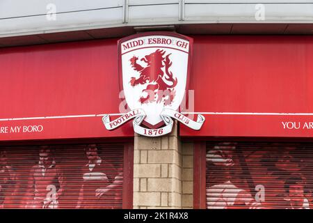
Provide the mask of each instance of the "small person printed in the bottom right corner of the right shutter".
{"label": "small person printed in the bottom right corner of the right shutter", "polygon": [[309,201],[305,198],[305,179],[294,174],[284,183],[287,192],[288,209],[310,209]]}

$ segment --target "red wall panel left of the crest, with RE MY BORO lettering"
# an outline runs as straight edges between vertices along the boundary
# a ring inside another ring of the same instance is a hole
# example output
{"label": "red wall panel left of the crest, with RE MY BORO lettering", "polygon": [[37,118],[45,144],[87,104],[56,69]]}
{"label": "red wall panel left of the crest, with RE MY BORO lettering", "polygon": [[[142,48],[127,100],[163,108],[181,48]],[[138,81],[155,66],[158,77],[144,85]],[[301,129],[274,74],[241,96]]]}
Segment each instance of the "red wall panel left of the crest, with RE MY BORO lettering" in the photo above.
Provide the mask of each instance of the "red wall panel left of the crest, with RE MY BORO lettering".
{"label": "red wall panel left of the crest, with RE MY BORO lettering", "polygon": [[1,49],[0,64],[0,140],[134,135],[95,116],[120,113],[117,40]]}

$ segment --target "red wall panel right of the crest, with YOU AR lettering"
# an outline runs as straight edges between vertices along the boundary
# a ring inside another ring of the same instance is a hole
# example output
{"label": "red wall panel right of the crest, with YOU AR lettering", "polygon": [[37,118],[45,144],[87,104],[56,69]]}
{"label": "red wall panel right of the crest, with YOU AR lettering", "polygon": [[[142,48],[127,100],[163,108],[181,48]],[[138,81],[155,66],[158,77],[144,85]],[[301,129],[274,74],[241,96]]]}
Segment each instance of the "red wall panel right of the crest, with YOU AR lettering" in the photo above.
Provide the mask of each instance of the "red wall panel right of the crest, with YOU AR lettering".
{"label": "red wall panel right of the crest, with YOU AR lettering", "polygon": [[299,114],[313,113],[312,60],[311,36],[195,37],[188,112],[206,121],[200,131],[182,126],[180,134],[312,137],[312,114]]}

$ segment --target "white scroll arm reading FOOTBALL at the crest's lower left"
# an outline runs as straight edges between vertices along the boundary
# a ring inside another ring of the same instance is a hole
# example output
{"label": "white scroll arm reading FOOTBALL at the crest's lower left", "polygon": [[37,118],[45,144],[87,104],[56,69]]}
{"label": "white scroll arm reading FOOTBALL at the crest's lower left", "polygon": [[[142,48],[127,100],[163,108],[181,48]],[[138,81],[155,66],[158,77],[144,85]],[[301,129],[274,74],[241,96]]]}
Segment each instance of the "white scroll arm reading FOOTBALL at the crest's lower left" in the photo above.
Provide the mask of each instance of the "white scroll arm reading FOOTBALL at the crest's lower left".
{"label": "white scroll arm reading FOOTBALL at the crest's lower left", "polygon": [[127,121],[131,120],[132,118],[136,118],[138,116],[145,117],[145,112],[143,112],[143,109],[131,110],[130,112],[123,114],[122,116],[116,118],[113,121],[110,121],[109,114],[106,114],[102,117],[102,121],[107,130],[114,130],[115,128],[120,127],[120,125],[127,123]]}

